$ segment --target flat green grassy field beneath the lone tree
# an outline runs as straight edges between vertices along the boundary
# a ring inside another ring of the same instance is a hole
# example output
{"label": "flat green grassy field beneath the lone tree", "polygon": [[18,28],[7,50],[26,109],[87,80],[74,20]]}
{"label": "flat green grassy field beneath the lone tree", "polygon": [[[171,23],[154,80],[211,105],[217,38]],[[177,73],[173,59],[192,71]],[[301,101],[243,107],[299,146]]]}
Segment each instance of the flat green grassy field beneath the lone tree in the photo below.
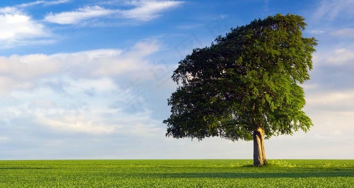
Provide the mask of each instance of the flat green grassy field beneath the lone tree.
{"label": "flat green grassy field beneath the lone tree", "polygon": [[354,160],[0,161],[0,187],[354,187]]}

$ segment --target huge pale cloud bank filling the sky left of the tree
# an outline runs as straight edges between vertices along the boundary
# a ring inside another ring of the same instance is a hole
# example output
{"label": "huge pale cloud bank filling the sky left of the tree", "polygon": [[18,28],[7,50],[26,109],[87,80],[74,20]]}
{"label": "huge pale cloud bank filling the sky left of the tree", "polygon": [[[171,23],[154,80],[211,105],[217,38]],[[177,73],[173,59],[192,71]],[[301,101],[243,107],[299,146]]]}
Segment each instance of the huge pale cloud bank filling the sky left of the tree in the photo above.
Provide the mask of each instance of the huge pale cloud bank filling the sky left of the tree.
{"label": "huge pale cloud bank filling the sky left of the tree", "polygon": [[157,126],[161,122],[151,117],[141,96],[145,90],[140,84],[126,86],[129,79],[155,79],[148,56],[159,48],[156,40],[142,40],[124,51],[0,57],[0,98],[14,99],[0,107],[0,119],[26,117],[64,133],[148,136],[161,132]]}

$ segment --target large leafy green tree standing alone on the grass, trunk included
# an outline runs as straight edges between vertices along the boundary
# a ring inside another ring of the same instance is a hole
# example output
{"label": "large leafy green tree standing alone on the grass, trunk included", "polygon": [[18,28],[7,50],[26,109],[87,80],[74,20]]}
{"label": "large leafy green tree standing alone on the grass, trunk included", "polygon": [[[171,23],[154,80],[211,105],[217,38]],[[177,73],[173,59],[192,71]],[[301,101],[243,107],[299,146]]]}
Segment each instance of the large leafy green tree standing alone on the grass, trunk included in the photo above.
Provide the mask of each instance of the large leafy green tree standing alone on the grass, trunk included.
{"label": "large leafy green tree standing alone on the grass, trunk included", "polygon": [[302,111],[317,40],[298,15],[269,16],[232,28],[179,62],[168,99],[166,136],[253,140],[253,165],[265,165],[264,139],[309,130]]}

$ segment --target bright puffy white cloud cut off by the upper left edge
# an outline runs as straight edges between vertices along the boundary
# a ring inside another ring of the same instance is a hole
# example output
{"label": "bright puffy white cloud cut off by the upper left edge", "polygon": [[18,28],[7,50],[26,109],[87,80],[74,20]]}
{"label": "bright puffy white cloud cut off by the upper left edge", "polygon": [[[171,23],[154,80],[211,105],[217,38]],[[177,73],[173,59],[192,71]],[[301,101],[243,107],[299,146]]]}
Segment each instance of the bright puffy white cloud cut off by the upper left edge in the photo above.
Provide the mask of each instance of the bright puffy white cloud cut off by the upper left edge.
{"label": "bright puffy white cloud cut off by the upper left edge", "polygon": [[2,48],[26,45],[34,39],[49,37],[46,27],[29,15],[12,7],[0,8],[0,44]]}

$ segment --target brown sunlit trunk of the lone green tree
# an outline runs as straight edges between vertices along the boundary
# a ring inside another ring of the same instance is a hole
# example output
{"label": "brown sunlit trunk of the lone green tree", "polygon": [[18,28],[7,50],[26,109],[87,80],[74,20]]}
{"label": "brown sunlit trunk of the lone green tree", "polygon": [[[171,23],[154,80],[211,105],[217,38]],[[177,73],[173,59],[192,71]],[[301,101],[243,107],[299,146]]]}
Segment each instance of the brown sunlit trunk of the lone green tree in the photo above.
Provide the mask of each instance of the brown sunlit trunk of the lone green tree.
{"label": "brown sunlit trunk of the lone green tree", "polygon": [[264,130],[260,127],[253,131],[253,166],[267,164],[264,153]]}

